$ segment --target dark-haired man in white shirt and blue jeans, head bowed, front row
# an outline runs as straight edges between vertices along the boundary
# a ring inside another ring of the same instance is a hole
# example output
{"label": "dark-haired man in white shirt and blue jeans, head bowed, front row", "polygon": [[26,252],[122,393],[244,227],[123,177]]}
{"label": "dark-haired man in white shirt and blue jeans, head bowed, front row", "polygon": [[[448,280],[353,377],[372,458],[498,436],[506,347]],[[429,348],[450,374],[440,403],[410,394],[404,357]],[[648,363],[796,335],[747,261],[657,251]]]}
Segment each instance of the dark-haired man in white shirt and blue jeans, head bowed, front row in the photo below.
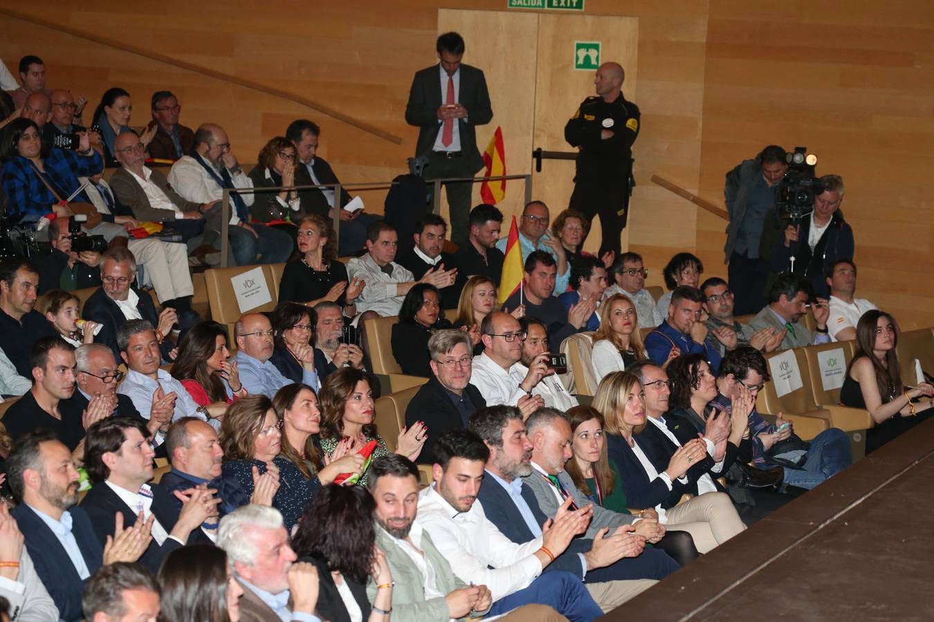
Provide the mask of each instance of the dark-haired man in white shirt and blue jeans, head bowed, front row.
{"label": "dark-haired man in white shirt and blue jeans, head bowed, front row", "polygon": [[551,529],[517,545],[476,502],[489,458],[483,440],[467,430],[451,430],[437,439],[435,451],[434,482],[418,495],[416,519],[461,581],[490,586],[494,603],[509,608],[538,602],[571,620],[602,615],[579,578],[560,570],[543,574],[574,535],[587,529],[587,514],[565,507]]}

